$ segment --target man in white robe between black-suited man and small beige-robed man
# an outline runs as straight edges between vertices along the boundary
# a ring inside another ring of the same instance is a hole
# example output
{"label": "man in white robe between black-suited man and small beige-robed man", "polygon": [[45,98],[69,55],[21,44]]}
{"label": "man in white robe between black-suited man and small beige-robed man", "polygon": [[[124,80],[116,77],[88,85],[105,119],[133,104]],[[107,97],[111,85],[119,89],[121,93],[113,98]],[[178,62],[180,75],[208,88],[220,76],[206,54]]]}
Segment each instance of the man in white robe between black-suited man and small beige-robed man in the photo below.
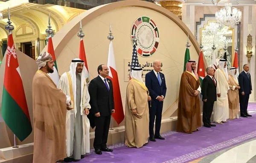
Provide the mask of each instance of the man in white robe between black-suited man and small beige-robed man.
{"label": "man in white robe between black-suited man and small beige-robed man", "polygon": [[222,124],[227,122],[229,118],[227,93],[230,87],[228,85],[227,60],[219,60],[214,77],[218,84],[216,86],[217,101],[213,105],[213,121],[217,124]]}

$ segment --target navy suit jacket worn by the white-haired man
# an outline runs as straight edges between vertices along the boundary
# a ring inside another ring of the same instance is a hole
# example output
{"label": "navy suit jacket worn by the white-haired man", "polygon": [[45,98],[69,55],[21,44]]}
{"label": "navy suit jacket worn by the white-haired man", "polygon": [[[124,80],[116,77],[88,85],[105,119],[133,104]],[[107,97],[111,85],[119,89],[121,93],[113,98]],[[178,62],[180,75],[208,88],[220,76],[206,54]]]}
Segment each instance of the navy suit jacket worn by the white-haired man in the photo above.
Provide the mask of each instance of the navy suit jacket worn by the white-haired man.
{"label": "navy suit jacket worn by the white-haired man", "polygon": [[161,85],[159,84],[157,76],[153,70],[145,76],[145,85],[148,88],[151,100],[156,100],[157,96],[166,96],[166,81],[163,73],[159,72],[159,75],[162,80]]}

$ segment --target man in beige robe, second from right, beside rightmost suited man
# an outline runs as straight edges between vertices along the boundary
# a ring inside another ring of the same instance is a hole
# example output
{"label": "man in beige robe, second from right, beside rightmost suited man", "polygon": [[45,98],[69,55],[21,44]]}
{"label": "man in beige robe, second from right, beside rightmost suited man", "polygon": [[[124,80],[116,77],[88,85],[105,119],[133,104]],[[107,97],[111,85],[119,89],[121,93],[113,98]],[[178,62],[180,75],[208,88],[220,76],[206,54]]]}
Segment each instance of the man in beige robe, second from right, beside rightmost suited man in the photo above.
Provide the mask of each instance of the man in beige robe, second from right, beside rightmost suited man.
{"label": "man in beige robe, second from right, beside rightmost suited man", "polygon": [[228,76],[228,106],[229,106],[229,119],[239,118],[239,84],[236,76],[236,67],[230,68],[230,75]]}

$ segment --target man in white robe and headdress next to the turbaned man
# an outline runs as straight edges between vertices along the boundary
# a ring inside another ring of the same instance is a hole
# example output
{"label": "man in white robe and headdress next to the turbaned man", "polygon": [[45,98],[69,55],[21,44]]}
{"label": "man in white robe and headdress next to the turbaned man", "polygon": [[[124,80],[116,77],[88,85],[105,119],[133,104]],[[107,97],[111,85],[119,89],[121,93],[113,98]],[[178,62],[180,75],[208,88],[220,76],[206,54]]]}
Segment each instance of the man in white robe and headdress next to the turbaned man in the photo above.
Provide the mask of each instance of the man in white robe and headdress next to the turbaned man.
{"label": "man in white robe and headdress next to the turbaned man", "polygon": [[85,153],[90,152],[90,95],[85,79],[84,61],[73,59],[70,71],[61,75],[58,87],[71,97],[74,110],[67,111],[66,145],[67,158],[65,162],[80,160]]}

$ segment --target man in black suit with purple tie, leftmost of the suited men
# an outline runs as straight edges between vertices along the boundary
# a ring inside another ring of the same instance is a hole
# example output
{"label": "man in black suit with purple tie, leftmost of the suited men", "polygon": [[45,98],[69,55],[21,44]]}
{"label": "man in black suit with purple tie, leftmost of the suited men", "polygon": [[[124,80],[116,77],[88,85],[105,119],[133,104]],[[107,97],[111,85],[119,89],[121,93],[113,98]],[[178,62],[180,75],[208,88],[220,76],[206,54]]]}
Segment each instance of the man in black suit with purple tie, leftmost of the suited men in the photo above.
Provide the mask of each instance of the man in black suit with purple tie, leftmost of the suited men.
{"label": "man in black suit with purple tie, leftmost of the suited men", "polygon": [[108,130],[110,125],[111,113],[114,113],[113,85],[108,76],[108,67],[99,65],[96,78],[90,81],[88,90],[90,94],[90,112],[93,116],[95,129],[95,138],[93,147],[95,153],[102,155],[101,151],[112,152],[107,147]]}

